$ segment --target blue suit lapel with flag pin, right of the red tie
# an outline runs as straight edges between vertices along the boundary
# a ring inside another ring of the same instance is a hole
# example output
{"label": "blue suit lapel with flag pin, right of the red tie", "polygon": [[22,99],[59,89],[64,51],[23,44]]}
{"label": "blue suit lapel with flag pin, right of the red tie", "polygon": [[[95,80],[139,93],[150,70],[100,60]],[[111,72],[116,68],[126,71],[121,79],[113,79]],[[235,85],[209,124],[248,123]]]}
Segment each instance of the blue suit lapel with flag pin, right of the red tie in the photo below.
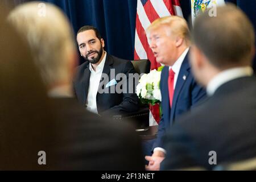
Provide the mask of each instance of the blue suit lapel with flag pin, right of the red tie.
{"label": "blue suit lapel with flag pin, right of the red tie", "polygon": [[190,66],[188,63],[188,53],[185,56],[185,59],[183,60],[183,63],[181,64],[179,75],[177,77],[175,90],[174,90],[174,98],[172,100],[172,108],[171,108],[171,124],[174,122],[174,113],[177,105],[177,98],[179,97],[180,91],[183,88],[183,85],[185,84],[185,81],[187,81],[187,77],[189,75]]}

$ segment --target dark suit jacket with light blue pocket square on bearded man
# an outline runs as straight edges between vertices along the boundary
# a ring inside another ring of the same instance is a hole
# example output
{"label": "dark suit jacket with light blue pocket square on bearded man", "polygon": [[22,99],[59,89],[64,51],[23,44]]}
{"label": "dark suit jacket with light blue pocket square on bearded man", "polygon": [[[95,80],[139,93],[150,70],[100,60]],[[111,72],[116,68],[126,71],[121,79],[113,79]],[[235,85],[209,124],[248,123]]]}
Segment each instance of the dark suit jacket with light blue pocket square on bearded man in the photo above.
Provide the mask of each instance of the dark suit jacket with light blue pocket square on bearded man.
{"label": "dark suit jacket with light blue pocket square on bearded man", "polygon": [[[110,69],[114,70],[114,75],[110,72]],[[115,90],[115,87],[118,84],[105,88],[107,83],[114,78],[117,83],[122,81],[122,79],[118,80],[118,78],[116,77],[118,73],[124,73],[127,79],[129,78],[129,73],[136,73],[131,61],[119,59],[107,53],[102,73],[105,73],[106,75],[108,75],[108,77],[101,77],[100,86],[101,88],[104,88],[104,91],[108,89],[108,93],[97,93],[96,101],[98,114],[114,115],[137,111],[139,105],[138,96],[135,93],[135,82],[133,82],[133,85],[129,85],[130,83],[127,80],[127,83],[123,85],[122,89],[126,87],[127,93],[112,93],[111,90]],[[77,68],[77,74],[75,77],[75,81],[73,82],[76,97],[83,106],[86,105],[89,83],[90,70],[89,62],[87,61]],[[131,88],[131,86],[133,86],[133,90],[132,93],[129,93],[129,88]]]}

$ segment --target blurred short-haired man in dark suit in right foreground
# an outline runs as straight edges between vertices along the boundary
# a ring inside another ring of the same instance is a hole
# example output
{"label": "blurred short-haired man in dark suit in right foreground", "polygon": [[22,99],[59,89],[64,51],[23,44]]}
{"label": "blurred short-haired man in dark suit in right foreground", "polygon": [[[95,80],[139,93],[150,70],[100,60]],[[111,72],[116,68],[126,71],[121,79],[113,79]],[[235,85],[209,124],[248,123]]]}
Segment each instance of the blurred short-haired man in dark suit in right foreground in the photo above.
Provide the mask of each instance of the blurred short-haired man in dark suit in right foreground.
{"label": "blurred short-haired man in dark suit in right foreground", "polygon": [[205,11],[196,18],[192,40],[192,71],[209,98],[168,131],[164,140],[167,156],[161,169],[213,169],[218,164],[254,158],[253,25],[236,6],[217,7],[217,16]]}

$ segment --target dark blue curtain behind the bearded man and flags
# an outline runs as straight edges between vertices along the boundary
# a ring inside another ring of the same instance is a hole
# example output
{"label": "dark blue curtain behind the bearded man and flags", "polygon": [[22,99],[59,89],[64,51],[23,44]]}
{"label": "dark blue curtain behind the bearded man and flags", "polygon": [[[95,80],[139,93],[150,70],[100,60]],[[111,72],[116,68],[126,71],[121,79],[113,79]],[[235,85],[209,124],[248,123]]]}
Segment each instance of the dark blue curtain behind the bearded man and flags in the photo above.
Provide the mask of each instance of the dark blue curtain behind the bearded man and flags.
{"label": "dark blue curtain behind the bearded man and flags", "polygon": [[[30,0],[4,0],[17,5]],[[253,22],[256,29],[256,0],[225,0],[235,3]],[[80,27],[90,24],[100,30],[106,51],[123,59],[134,56],[134,36],[137,0],[44,0],[59,6],[70,19],[76,33]],[[191,0],[180,0],[184,18],[191,15]],[[82,60],[81,60],[82,63]],[[256,70],[256,59],[254,59]]]}

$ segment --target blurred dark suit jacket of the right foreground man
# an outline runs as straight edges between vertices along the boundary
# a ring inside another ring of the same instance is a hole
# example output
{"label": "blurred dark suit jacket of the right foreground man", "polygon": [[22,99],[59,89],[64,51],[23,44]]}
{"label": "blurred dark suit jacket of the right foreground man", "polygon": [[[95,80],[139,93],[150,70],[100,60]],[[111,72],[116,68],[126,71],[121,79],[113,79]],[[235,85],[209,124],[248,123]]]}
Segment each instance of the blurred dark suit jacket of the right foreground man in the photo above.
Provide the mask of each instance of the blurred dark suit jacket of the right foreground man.
{"label": "blurred dark suit jacket of the right foreground man", "polygon": [[220,165],[255,158],[255,93],[255,76],[236,78],[180,117],[164,137],[167,155],[161,168],[212,169],[210,151],[216,152]]}

